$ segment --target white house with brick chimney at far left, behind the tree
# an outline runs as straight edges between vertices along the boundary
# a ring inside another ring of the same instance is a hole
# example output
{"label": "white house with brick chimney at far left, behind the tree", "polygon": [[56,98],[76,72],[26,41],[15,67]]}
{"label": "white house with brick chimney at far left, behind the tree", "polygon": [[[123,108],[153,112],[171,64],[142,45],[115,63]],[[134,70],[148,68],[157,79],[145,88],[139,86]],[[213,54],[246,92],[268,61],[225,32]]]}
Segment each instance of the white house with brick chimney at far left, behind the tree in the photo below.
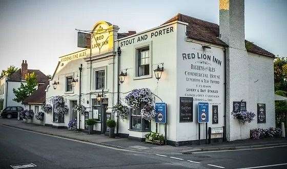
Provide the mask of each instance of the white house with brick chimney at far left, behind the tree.
{"label": "white house with brick chimney at far left, behind the tree", "polygon": [[[13,93],[13,89],[18,89],[21,83],[26,83],[25,75],[27,73],[34,72],[37,77],[37,82],[39,85],[44,84],[49,80],[43,72],[37,69],[28,69],[27,60],[22,61],[21,69],[18,69],[15,73],[13,73],[10,77],[4,76],[0,79],[0,108],[6,108],[11,106],[20,106],[22,107],[22,103],[16,102],[13,99],[15,98],[15,94]],[[2,110],[2,109],[1,109]]]}

